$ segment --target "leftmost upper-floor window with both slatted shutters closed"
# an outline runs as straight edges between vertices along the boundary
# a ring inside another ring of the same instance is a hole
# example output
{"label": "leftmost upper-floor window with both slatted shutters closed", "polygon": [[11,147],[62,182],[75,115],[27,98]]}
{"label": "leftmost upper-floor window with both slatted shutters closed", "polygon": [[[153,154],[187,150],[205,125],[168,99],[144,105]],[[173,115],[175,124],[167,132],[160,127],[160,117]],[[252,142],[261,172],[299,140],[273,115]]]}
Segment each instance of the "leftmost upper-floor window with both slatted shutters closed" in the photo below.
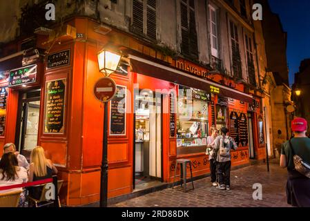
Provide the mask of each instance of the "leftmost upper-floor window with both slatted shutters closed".
{"label": "leftmost upper-floor window with both slatted shutters closed", "polygon": [[133,0],[133,32],[156,39],[156,1]]}

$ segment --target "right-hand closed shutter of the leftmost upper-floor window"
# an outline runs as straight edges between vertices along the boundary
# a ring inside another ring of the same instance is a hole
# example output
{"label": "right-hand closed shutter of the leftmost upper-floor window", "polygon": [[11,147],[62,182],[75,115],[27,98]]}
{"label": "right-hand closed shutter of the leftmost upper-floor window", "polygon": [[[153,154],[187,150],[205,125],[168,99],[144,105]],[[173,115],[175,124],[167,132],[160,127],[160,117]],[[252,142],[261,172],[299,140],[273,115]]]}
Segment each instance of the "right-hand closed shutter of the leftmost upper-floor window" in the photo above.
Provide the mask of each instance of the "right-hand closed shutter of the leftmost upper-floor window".
{"label": "right-hand closed shutter of the leftmost upper-floor window", "polygon": [[156,39],[156,0],[147,0],[146,35]]}

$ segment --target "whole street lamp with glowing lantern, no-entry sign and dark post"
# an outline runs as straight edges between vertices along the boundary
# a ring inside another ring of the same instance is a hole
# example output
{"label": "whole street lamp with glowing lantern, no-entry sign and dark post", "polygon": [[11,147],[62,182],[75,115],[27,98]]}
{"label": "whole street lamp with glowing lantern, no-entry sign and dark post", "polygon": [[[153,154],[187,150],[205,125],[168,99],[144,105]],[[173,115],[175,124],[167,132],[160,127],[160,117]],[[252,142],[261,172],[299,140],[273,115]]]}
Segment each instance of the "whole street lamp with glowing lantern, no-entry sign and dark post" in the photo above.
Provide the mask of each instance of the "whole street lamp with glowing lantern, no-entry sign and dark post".
{"label": "whole street lamp with glowing lantern, no-entry sign and dark post", "polygon": [[[108,102],[115,95],[115,82],[108,77],[114,73],[119,65],[121,55],[117,55],[107,50],[101,50],[98,53],[98,65],[101,73],[104,73],[105,77],[99,79],[100,88],[95,89],[99,93],[103,93],[99,96],[101,102],[104,104],[104,131],[103,131],[103,144],[102,144],[102,161],[101,161],[101,176],[100,176],[100,207],[108,206]],[[108,82],[106,86],[103,86],[104,82]],[[113,88],[114,86],[114,88]],[[98,90],[99,89],[99,90]],[[112,94],[111,92],[114,91]],[[109,97],[109,99],[101,99],[101,97]]]}

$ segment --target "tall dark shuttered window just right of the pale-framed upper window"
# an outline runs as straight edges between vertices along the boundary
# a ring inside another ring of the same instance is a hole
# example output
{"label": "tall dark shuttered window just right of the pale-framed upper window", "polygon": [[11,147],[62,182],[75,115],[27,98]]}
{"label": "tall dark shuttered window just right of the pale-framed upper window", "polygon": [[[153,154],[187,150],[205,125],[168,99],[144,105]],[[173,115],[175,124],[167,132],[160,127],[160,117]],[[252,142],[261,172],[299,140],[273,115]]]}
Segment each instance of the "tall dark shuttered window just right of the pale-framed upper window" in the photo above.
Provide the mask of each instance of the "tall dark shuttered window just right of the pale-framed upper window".
{"label": "tall dark shuttered window just right of the pale-framed upper window", "polygon": [[233,76],[238,79],[242,79],[241,57],[238,41],[238,28],[232,21],[230,21],[230,30],[231,30],[231,53],[232,53]]}

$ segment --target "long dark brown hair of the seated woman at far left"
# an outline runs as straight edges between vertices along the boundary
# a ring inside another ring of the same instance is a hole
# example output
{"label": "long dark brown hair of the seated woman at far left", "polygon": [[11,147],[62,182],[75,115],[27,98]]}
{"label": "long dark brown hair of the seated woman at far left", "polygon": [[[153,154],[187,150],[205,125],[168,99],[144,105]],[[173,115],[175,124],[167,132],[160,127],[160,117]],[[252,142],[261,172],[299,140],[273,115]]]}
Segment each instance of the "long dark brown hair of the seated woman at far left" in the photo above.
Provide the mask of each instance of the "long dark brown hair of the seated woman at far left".
{"label": "long dark brown hair of the seated woman at far left", "polygon": [[16,166],[18,166],[18,160],[14,153],[5,153],[1,157],[0,161],[0,173],[2,173],[2,179],[15,180],[17,175]]}

